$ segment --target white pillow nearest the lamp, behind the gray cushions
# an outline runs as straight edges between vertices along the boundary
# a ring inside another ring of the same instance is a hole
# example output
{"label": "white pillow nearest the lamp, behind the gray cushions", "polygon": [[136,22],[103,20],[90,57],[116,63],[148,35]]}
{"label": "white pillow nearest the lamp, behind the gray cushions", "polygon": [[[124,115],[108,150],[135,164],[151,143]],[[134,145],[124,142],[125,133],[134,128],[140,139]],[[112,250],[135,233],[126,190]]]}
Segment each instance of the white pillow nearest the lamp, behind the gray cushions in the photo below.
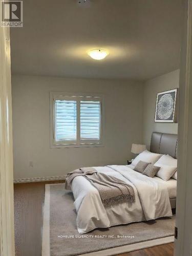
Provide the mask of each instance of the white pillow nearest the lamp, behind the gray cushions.
{"label": "white pillow nearest the lamp, behind the gray cushions", "polygon": [[162,155],[160,154],[152,153],[150,151],[145,150],[133,160],[132,165],[136,166],[139,161],[154,164],[161,156]]}

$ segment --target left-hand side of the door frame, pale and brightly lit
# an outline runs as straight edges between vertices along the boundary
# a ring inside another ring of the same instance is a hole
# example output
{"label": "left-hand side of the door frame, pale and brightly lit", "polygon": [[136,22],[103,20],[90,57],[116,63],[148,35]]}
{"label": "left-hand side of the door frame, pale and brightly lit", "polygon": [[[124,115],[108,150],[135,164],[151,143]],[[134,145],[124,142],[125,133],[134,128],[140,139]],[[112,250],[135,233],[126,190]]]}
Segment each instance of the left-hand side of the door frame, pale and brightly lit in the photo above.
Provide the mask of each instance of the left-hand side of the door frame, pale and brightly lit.
{"label": "left-hand side of the door frame, pale and brightly lit", "polygon": [[10,29],[0,27],[0,255],[13,256],[13,139]]}

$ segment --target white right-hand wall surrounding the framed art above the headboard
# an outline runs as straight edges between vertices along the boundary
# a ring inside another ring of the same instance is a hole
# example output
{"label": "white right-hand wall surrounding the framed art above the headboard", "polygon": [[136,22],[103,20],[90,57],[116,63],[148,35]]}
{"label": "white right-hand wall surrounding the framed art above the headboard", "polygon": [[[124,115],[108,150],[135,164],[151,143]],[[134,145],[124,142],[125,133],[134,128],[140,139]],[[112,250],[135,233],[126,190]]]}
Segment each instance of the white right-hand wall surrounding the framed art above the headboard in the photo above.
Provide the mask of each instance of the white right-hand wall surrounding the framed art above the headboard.
{"label": "white right-hand wall surrounding the framed art above the headboard", "polygon": [[177,134],[178,123],[154,122],[157,93],[179,88],[179,70],[148,80],[144,84],[143,140],[148,147],[152,132]]}

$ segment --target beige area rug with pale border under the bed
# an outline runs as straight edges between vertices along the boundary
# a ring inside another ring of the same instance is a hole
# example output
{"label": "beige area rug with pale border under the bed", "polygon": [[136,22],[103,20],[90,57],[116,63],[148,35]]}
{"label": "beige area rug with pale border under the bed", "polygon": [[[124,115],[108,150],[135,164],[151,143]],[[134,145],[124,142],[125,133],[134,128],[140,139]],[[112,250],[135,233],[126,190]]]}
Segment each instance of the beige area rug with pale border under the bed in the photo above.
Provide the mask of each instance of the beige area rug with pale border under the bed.
{"label": "beige area rug with pale border under the bed", "polygon": [[73,203],[63,184],[46,185],[42,256],[115,255],[174,241],[175,216],[95,229],[80,237]]}

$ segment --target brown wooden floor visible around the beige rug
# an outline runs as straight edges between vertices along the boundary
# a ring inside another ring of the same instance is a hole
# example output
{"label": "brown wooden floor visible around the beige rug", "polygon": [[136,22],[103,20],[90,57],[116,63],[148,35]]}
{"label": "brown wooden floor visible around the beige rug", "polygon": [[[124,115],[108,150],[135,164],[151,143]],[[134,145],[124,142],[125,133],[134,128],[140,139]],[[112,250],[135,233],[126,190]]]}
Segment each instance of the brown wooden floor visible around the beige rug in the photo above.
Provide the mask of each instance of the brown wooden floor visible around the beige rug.
{"label": "brown wooden floor visible around the beige rug", "polygon": [[[42,234],[42,208],[45,184],[63,181],[14,184],[15,255],[40,256]],[[119,256],[173,256],[173,243],[155,246]],[[65,255],[63,255],[65,256]]]}

